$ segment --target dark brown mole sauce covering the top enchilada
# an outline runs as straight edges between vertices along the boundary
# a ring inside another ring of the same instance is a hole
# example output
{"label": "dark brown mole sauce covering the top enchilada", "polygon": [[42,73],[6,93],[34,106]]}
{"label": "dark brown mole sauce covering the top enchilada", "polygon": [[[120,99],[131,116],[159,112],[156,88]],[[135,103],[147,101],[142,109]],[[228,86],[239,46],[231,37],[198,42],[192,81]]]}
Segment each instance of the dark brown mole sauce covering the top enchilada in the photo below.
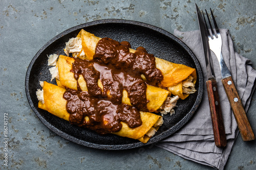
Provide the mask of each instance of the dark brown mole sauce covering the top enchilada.
{"label": "dark brown mole sauce covering the top enchilada", "polygon": [[163,80],[162,72],[156,68],[155,57],[148,54],[143,47],[138,47],[135,53],[130,53],[131,45],[127,41],[119,43],[110,38],[102,38],[96,46],[94,59],[103,63],[111,63],[116,68],[143,74],[146,83],[157,85]]}

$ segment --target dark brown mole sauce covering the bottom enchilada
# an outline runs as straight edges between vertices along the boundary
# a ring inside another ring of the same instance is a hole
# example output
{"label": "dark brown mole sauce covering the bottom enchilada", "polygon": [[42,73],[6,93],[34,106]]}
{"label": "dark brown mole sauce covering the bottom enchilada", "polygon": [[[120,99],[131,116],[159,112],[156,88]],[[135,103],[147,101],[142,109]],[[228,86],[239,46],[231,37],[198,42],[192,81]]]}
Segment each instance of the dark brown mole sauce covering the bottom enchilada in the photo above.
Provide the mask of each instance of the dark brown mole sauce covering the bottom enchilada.
{"label": "dark brown mole sauce covering the bottom enchilada", "polygon": [[[130,128],[139,127],[142,122],[139,111],[126,104],[115,105],[111,101],[95,98],[87,91],[67,89],[63,94],[67,100],[67,111],[71,124],[86,127],[99,134],[118,132],[121,122]],[[86,121],[84,117],[88,117]]]}

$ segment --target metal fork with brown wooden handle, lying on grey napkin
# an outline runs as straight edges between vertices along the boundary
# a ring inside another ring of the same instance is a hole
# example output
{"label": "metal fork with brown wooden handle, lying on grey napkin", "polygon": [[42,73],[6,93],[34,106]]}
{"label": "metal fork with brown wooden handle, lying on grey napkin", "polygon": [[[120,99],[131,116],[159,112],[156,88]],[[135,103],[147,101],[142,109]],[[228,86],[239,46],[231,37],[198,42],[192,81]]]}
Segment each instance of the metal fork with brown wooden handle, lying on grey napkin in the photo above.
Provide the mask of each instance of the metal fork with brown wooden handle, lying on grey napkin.
{"label": "metal fork with brown wooden handle, lying on grey napkin", "polygon": [[209,19],[209,16],[208,16],[208,13],[206,10],[205,10],[205,12],[206,12],[206,16],[207,16],[209,26],[210,26],[210,32],[209,32],[209,29],[208,29],[207,23],[206,23],[206,19],[203,14],[203,18],[204,18],[205,26],[206,26],[206,34],[208,34],[207,36],[208,36],[209,47],[210,47],[210,50],[212,52],[214,52],[214,54],[216,55],[216,57],[219,61],[220,69],[221,69],[221,76],[222,76],[221,81],[224,86],[225,92],[227,94],[227,98],[228,98],[228,101],[232,108],[234,117],[236,118],[239,131],[240,131],[241,136],[244,141],[254,140],[255,137],[254,137],[253,131],[251,129],[249,120],[246,116],[246,113],[243,108],[239,94],[237,92],[236,86],[234,86],[234,83],[233,83],[233,80],[231,77],[231,73],[225,64],[222,53],[221,53],[222,39],[221,39],[221,34],[220,34],[219,28],[217,26],[217,22],[215,20],[214,14],[212,13],[212,11],[210,9],[211,17],[212,17],[212,20],[214,21],[215,29],[213,29],[211,26],[210,19]]}

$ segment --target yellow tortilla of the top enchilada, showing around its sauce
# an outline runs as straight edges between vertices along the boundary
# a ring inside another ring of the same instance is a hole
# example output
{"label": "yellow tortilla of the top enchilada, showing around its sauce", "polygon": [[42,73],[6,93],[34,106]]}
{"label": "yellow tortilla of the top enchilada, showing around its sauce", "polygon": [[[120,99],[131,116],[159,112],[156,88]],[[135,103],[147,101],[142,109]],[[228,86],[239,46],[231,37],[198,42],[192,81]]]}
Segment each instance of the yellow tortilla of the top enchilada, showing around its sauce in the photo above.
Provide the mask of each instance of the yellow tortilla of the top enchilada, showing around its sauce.
{"label": "yellow tortilla of the top enchilada, showing around its sauce", "polygon": [[[86,54],[86,57],[80,57],[81,59],[92,60],[95,54],[95,49],[98,41],[101,39],[94,34],[84,31],[79,32],[77,37],[82,40],[82,50]],[[135,53],[136,50],[130,48],[130,53]],[[79,56],[78,56],[79,57]],[[155,57],[156,68],[160,69],[163,74],[163,80],[161,82],[162,87],[175,86],[185,80],[189,75],[193,75],[194,80],[197,80],[196,69],[188,67],[183,64],[172,63],[160,58]]]}

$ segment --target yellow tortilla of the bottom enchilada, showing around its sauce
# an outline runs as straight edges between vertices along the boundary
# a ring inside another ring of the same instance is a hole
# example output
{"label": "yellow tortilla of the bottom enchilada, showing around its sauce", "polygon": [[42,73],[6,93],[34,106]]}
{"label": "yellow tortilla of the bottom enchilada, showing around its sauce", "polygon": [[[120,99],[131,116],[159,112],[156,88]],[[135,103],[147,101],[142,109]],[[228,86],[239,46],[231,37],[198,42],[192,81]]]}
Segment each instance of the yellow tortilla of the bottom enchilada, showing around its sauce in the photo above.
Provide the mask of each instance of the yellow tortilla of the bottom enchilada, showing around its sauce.
{"label": "yellow tortilla of the bottom enchilada, showing around its sauce", "polygon": [[[67,101],[63,99],[65,88],[44,82],[44,104],[38,102],[38,107],[47,110],[51,114],[62,119],[69,120],[70,114],[66,110]],[[140,112],[142,125],[137,128],[129,128],[126,123],[121,122],[122,128],[120,131],[113,134],[138,139],[146,143],[154,132],[157,131],[162,124],[162,117],[150,112]],[[87,119],[87,117],[85,117]]]}

